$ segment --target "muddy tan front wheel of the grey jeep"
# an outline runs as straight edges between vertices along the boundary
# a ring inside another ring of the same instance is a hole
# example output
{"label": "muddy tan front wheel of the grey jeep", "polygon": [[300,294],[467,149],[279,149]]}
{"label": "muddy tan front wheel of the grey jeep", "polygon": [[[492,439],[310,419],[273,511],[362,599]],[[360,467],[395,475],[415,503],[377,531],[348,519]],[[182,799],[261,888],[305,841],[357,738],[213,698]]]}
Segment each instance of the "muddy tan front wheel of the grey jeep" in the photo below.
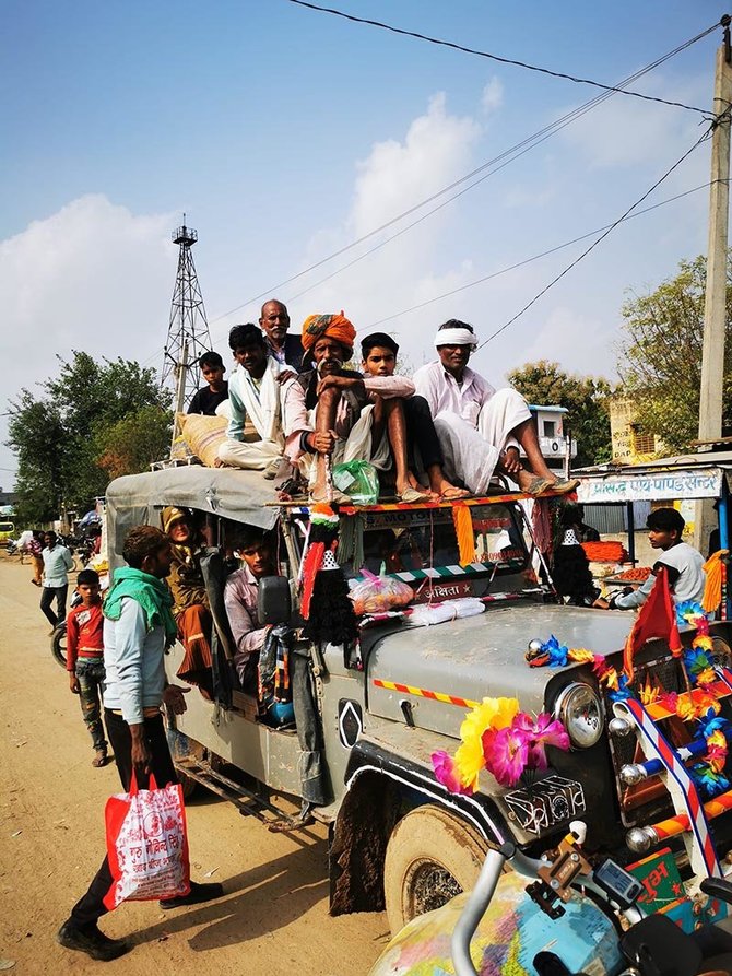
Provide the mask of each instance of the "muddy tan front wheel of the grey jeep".
{"label": "muddy tan front wheel of the grey jeep", "polygon": [[473,887],[488,844],[477,830],[432,803],[402,818],[387,845],[383,893],[392,936],[417,915]]}

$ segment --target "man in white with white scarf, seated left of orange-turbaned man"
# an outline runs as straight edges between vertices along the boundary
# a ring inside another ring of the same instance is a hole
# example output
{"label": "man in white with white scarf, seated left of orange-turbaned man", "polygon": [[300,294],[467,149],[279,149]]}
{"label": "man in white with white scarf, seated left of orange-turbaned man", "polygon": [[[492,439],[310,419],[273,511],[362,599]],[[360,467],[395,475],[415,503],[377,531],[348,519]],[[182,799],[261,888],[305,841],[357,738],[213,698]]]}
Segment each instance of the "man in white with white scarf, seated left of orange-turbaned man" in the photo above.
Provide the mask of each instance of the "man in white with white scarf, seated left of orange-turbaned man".
{"label": "man in white with white scarf, seated left of orange-turbaned man", "polygon": [[[228,344],[237,362],[228,380],[231,420],[227,439],[219,448],[216,466],[264,469],[274,478],[284,452],[282,387],[276,377],[280,363],[268,355],[267,342],[257,326],[234,326]],[[244,424],[249,418],[259,440],[245,442]]]}

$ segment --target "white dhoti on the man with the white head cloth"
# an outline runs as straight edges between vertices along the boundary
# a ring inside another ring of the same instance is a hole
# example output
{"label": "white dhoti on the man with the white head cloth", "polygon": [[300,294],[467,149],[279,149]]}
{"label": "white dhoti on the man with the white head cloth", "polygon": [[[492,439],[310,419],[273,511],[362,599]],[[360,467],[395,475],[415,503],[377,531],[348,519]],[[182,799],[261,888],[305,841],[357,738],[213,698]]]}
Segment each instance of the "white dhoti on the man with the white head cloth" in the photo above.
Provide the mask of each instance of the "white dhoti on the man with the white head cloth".
{"label": "white dhoti on the man with the white head cloth", "polygon": [[435,430],[445,456],[448,480],[461,481],[475,495],[485,494],[511,432],[530,419],[527,401],[510,387],[497,390],[483,404],[477,427],[457,413],[438,413]]}

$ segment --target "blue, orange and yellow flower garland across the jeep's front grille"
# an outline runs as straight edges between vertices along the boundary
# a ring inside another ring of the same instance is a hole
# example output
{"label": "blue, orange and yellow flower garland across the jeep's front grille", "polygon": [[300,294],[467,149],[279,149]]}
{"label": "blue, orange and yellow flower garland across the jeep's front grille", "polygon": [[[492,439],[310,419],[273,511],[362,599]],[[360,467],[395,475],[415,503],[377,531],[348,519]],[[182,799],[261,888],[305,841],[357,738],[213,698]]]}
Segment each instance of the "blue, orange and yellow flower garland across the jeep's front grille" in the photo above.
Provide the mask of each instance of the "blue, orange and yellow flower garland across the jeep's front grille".
{"label": "blue, orange and yellow flower garland across the jeep's front grille", "polygon": [[[692,647],[683,651],[682,660],[689,684],[703,690],[703,694],[693,698],[688,694],[663,692],[652,686],[647,679],[646,684],[639,689],[637,697],[644,705],[658,702],[677,715],[682,721],[699,722],[694,738],[704,739],[707,751],[699,762],[694,763],[689,772],[706,796],[716,797],[730,788],[730,780],[724,769],[729,753],[728,736],[732,733],[732,724],[719,718],[721,705],[713,693],[711,691],[704,693],[705,689],[710,689],[717,681],[709,620],[699,603],[687,600],[676,607],[676,621],[680,625],[688,624],[696,627]],[[610,667],[602,655],[592,654],[583,647],[568,648],[559,644],[554,635],[544,644],[532,642],[526,657],[530,668],[546,666],[563,668],[568,663],[591,663],[600,684],[607,687],[611,701],[617,702],[634,696],[627,674],[618,673],[615,668]]]}

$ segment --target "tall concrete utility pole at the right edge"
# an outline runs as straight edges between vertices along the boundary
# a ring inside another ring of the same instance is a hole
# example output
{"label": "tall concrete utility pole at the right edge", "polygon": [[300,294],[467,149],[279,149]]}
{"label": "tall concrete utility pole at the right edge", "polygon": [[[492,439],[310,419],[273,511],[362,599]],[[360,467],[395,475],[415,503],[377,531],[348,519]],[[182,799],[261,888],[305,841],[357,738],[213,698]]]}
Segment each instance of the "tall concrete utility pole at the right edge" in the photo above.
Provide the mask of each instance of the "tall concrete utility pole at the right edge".
{"label": "tall concrete utility pole at the right edge", "polygon": [[[722,436],[722,390],[724,383],[724,333],[727,330],[727,263],[730,211],[730,109],[732,108],[731,19],[717,51],[713,113],[718,121],[711,137],[711,187],[709,192],[709,244],[707,290],[704,304],[704,345],[699,390],[699,449],[712,450]],[[706,551],[711,528],[711,505],[697,502],[694,541]]]}

